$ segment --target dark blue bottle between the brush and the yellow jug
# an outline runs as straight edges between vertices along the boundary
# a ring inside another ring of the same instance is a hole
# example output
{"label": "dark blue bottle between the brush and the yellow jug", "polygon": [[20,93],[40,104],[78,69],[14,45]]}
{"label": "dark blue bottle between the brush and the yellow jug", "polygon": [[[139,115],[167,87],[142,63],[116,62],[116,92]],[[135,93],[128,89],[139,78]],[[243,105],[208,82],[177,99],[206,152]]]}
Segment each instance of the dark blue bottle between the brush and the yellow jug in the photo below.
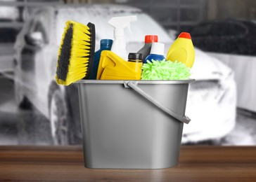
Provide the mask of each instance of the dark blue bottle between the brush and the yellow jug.
{"label": "dark blue bottle between the brush and the yellow jug", "polygon": [[90,79],[96,79],[96,77],[97,77],[98,63],[100,62],[101,51],[110,50],[111,46],[112,46],[112,43],[113,43],[113,40],[111,40],[111,39],[102,39],[101,40],[101,47],[94,54],[94,64],[93,64]]}

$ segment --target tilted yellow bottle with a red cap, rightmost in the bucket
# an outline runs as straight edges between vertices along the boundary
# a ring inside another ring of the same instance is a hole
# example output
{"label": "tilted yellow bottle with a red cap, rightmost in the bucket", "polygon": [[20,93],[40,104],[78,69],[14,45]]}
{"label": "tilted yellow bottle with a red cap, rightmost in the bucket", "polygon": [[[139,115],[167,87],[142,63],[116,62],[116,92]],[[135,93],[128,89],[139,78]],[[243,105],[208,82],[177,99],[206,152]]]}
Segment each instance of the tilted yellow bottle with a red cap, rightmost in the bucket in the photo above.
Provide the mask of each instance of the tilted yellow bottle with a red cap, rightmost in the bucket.
{"label": "tilted yellow bottle with a red cap, rightmost in the bucket", "polygon": [[192,67],[195,60],[195,49],[189,33],[182,32],[171,45],[167,52],[167,60],[172,62],[183,62],[188,67]]}

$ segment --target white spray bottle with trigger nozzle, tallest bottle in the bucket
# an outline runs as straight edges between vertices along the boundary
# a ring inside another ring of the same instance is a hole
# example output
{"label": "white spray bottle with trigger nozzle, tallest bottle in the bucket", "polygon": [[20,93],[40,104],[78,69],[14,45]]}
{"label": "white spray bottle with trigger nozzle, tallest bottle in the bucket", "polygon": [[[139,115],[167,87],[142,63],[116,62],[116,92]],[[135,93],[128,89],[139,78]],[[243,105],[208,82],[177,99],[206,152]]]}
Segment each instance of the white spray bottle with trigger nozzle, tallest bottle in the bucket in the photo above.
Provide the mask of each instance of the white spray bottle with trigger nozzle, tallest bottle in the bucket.
{"label": "white spray bottle with trigger nozzle, tallest bottle in the bucket", "polygon": [[128,52],[126,50],[126,42],[124,40],[124,28],[128,28],[131,31],[131,22],[136,22],[137,16],[122,16],[113,17],[108,21],[108,24],[114,27],[114,41],[111,47],[111,51],[115,52],[116,55],[122,57],[122,59],[127,60]]}

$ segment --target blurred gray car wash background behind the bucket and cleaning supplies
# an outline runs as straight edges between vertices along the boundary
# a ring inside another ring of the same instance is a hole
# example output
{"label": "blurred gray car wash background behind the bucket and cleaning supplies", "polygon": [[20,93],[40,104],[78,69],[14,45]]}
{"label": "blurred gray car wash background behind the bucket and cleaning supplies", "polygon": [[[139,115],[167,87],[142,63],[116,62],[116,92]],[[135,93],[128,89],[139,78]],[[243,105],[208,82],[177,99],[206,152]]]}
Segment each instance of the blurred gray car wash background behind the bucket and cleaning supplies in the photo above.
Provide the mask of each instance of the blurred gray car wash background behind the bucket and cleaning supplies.
{"label": "blurred gray car wash background behind the bucket and cleaning supplies", "polygon": [[65,21],[94,22],[98,50],[122,15],[138,15],[129,52],[152,32],[166,49],[191,33],[196,83],[182,144],[256,144],[256,1],[0,0],[0,145],[82,144],[77,86],[55,82]]}

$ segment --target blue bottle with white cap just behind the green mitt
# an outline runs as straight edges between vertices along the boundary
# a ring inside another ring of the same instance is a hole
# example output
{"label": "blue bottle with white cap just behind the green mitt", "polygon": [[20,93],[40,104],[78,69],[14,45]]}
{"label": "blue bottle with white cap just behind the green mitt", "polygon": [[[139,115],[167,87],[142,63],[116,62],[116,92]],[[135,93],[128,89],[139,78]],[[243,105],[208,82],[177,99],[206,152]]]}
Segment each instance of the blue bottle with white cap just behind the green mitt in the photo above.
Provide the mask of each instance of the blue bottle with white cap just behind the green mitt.
{"label": "blue bottle with white cap just behind the green mitt", "polygon": [[165,44],[152,43],[151,54],[145,58],[144,63],[147,63],[147,60],[152,62],[152,59],[155,61],[162,61],[162,59],[165,59],[164,52]]}

